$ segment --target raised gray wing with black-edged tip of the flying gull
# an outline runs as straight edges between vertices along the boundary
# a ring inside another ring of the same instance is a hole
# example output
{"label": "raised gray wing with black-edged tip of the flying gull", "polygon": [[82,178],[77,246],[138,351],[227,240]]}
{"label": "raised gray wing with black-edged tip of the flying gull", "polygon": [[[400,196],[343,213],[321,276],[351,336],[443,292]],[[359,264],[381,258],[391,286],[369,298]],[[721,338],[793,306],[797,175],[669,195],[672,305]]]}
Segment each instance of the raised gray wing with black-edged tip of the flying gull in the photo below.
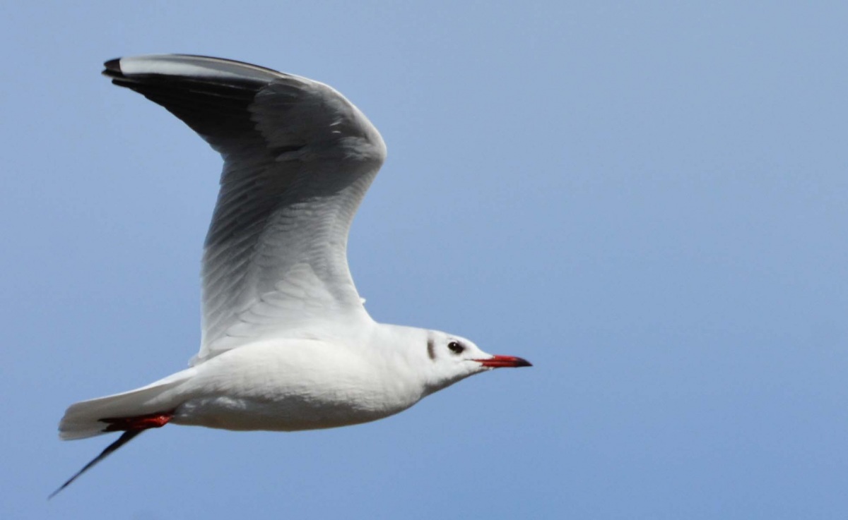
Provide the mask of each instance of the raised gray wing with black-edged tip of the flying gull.
{"label": "raised gray wing with black-edged tip of the flying gull", "polygon": [[219,58],[142,56],[105,67],[115,85],[167,108],[224,158],[192,364],[264,337],[371,320],[347,241],[386,147],[359,109],[317,81]]}

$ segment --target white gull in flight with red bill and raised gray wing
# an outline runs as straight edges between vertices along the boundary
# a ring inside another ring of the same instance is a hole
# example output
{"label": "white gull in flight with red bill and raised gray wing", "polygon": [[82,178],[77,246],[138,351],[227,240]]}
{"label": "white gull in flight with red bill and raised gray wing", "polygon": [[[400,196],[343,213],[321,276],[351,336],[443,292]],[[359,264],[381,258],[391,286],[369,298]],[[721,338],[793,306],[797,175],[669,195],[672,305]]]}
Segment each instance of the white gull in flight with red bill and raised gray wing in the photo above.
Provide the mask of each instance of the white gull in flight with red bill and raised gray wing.
{"label": "white gull in flight with red bill and raised gray wing", "polygon": [[338,91],[186,54],[104,66],[114,85],[203,137],[224,168],[204,242],[200,351],[164,379],[71,405],[62,440],[122,434],[53,495],[165,424],[336,428],[402,412],[475,373],[531,366],[458,335],[380,324],[365,311],[348,268],[348,231],[386,145]]}

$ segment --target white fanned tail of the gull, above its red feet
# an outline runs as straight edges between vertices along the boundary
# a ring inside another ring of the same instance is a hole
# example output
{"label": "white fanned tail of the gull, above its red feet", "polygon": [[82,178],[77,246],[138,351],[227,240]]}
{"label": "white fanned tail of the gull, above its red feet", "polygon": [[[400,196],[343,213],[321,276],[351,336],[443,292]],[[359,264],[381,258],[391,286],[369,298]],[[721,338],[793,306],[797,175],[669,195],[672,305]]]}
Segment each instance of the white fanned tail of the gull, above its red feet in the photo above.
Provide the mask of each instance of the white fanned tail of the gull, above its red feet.
{"label": "white fanned tail of the gull, above its red feet", "polygon": [[179,392],[171,390],[189,379],[193,371],[189,368],[136,390],[75,403],[59,422],[59,438],[85,439],[114,431],[107,430],[109,423],[103,421],[105,418],[131,418],[173,410],[181,398]]}

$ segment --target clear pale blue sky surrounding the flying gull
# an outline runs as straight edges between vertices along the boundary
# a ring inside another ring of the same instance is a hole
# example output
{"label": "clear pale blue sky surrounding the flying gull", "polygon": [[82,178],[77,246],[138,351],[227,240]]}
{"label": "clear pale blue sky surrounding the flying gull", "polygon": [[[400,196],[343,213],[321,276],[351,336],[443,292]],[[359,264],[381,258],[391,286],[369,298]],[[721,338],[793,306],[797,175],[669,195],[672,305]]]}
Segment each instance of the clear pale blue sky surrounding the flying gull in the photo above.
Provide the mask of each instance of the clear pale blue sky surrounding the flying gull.
{"label": "clear pale blue sky surrounding the flying gull", "polygon": [[[0,4],[0,517],[848,517],[844,2],[123,4]],[[141,53],[342,91],[389,151],[371,315],[535,366],[346,429],[166,427],[46,501],[110,441],[64,408],[198,347],[220,159],[99,75]]]}

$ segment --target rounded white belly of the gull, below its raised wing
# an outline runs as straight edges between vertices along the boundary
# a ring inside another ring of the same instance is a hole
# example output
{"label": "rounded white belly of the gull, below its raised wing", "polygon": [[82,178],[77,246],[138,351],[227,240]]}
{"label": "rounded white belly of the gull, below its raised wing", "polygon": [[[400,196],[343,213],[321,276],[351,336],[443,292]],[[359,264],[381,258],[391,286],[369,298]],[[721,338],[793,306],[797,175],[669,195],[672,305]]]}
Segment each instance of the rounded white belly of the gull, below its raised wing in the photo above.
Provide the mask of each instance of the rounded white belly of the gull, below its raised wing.
{"label": "rounded white belly of the gull, below its raised wing", "polygon": [[[197,367],[172,423],[292,431],[365,423],[411,407],[422,390],[349,346],[300,340],[243,346]],[[405,383],[403,383],[405,381]]]}

